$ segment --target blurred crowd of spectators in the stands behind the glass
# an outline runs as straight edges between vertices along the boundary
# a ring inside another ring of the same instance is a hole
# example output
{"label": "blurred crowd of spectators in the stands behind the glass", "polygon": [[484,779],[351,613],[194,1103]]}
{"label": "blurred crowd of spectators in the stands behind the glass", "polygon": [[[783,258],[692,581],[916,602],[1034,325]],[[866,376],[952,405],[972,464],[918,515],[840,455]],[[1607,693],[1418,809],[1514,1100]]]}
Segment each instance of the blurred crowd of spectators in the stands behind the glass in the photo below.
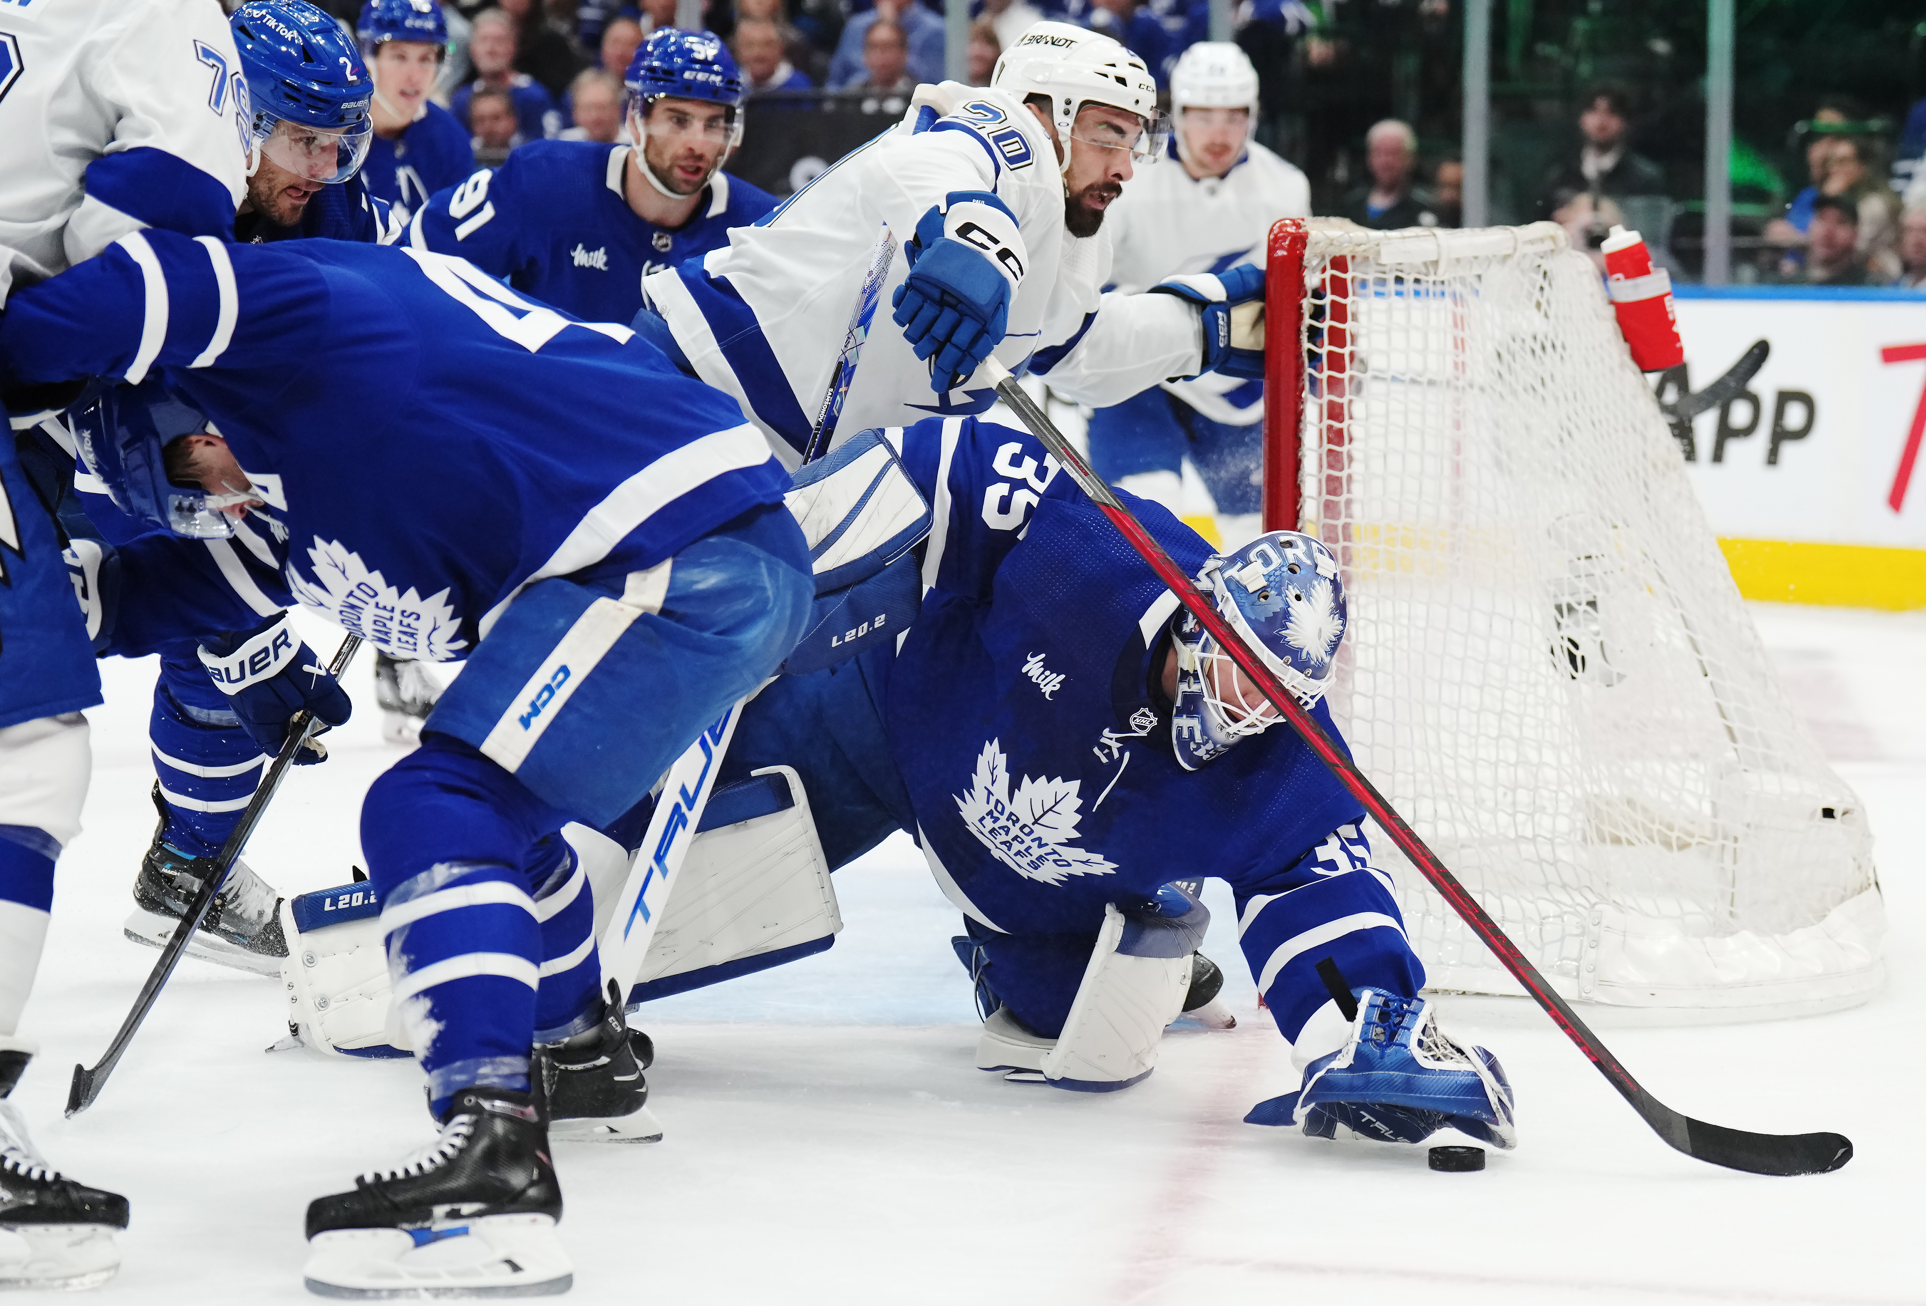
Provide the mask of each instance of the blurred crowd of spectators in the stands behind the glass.
{"label": "blurred crowd of spectators in the stands behind the glass", "polygon": [[[343,10],[360,4],[327,2]],[[483,166],[545,137],[612,143],[622,129],[622,75],[636,48],[678,15],[678,0],[435,2],[443,4],[451,33],[435,98],[472,133],[476,162]],[[899,112],[917,83],[944,77],[940,0],[695,4],[703,23],[728,40],[751,100],[763,100],[767,110],[832,91]],[[1294,25],[1310,10],[1246,0],[1236,13],[1238,40],[1252,48],[1277,33],[1298,37]],[[973,85],[986,85],[1000,52],[1044,17],[1117,37],[1159,83],[1167,83],[1177,56],[1206,39],[1210,27],[1208,0],[971,0],[971,15],[967,81]],[[1304,31],[1312,33],[1306,48],[1315,54],[1315,33]],[[1587,87],[1568,121],[1570,143],[1543,175],[1531,216],[1562,223],[1574,245],[1591,250],[1616,223],[1656,227],[1654,254],[1679,272],[1666,235],[1681,206],[1666,193],[1666,168],[1635,148],[1633,92],[1620,85]],[[1851,96],[1822,100],[1797,135],[1807,185],[1782,214],[1737,233],[1737,258],[1749,275],[1926,289],[1926,168],[1918,166],[1926,160],[1926,100],[1913,106],[1897,143],[1889,143],[1887,121]],[[1441,156],[1433,148],[1425,166],[1412,125],[1385,118],[1369,127],[1358,154],[1364,168],[1362,175],[1356,168],[1348,173],[1352,181],[1342,170],[1314,177],[1321,212],[1381,229],[1458,225],[1464,168],[1452,152]]]}

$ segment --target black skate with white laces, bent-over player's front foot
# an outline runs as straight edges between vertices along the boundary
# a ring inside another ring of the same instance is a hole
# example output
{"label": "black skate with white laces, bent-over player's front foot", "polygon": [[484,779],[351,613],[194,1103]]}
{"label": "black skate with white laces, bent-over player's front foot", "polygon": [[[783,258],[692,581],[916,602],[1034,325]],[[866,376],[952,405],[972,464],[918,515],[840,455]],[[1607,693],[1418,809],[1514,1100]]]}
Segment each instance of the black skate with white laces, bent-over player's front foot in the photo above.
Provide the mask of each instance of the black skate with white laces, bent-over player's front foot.
{"label": "black skate with white laces, bent-over player's front foot", "polygon": [[547,1296],[574,1281],[562,1188],[534,1094],[462,1088],[441,1136],[308,1204],[320,1296]]}

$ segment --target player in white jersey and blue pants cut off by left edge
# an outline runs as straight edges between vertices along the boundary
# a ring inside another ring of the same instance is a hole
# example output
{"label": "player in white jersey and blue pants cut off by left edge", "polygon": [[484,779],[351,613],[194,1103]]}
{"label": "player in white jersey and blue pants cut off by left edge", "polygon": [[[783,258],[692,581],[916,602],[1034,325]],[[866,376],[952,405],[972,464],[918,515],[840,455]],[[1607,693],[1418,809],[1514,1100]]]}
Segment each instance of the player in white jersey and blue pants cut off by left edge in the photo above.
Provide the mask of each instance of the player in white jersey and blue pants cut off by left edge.
{"label": "player in white jersey and blue pants cut off by left edge", "polygon": [[[247,108],[218,4],[0,0],[0,312],[141,227],[227,239],[247,193]],[[81,711],[100,703],[52,514],[73,472],[58,420],[71,399],[0,393],[0,1289],[102,1283],[127,1227],[127,1200],[60,1177],[6,1100],[35,1054],[19,1017],[54,859],[81,830]]]}

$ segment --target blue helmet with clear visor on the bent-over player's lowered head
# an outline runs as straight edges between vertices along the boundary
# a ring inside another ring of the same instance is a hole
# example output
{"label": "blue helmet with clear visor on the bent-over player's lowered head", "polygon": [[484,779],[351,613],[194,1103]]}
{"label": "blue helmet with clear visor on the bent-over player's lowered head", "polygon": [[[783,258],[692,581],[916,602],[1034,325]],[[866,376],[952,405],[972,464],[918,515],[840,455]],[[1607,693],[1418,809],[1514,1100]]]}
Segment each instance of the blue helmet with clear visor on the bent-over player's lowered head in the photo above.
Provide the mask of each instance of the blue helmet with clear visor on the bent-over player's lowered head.
{"label": "blue helmet with clear visor on the bent-over player's lowered head", "polygon": [[206,416],[156,378],[102,391],[73,420],[81,462],[100,478],[121,512],[189,539],[225,539],[235,534],[235,522],[221,509],[260,503],[260,495],[177,485],[168,480],[162,453],[181,435],[204,430]]}

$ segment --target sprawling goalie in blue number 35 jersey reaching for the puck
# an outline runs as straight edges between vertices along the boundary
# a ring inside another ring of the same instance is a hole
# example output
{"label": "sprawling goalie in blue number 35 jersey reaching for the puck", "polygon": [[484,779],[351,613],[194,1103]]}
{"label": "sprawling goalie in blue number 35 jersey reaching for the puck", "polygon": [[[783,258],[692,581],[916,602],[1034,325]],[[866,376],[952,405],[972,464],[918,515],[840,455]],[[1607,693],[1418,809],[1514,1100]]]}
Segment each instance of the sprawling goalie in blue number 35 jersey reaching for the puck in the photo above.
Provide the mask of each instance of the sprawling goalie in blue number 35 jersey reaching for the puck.
{"label": "sprawling goalie in blue number 35 jersey reaching for the puck", "polygon": [[[822,503],[817,478],[849,460],[882,499],[882,449],[934,505],[921,613],[899,649],[892,618],[853,661],[763,690],[718,784],[794,767],[830,867],[915,834],[965,917],[984,1069],[1088,1092],[1148,1075],[1208,923],[1183,882],[1217,876],[1304,1071],[1254,1123],[1404,1142],[1454,1127],[1512,1146],[1497,1059],[1441,1034],[1419,998],[1358,801],[1044,447],[980,418],[869,431],[797,474],[797,493]],[[1329,551],[1271,532],[1217,557],[1131,503],[1335,734],[1319,699],[1346,611]]]}

